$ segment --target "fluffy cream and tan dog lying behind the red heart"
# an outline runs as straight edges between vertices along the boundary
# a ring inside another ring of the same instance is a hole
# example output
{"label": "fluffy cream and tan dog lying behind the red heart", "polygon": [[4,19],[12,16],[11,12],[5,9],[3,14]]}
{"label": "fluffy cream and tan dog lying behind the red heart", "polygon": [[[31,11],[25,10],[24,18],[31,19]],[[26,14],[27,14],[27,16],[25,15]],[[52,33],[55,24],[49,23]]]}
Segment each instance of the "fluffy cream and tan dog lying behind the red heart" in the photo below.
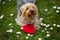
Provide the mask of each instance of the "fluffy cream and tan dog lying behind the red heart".
{"label": "fluffy cream and tan dog lying behind the red heart", "polygon": [[26,3],[21,6],[18,11],[16,22],[20,26],[31,23],[34,25],[35,30],[39,30],[40,26],[37,7],[32,3]]}

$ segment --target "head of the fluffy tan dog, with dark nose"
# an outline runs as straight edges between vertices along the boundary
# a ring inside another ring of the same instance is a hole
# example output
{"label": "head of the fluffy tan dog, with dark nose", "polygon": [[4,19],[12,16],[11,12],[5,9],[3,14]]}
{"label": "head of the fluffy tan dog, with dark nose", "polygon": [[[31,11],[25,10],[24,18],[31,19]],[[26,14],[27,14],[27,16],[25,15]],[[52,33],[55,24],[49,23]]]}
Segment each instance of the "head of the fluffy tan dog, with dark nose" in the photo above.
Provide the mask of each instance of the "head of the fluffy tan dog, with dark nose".
{"label": "head of the fluffy tan dog, with dark nose", "polygon": [[27,3],[20,8],[19,13],[22,18],[30,21],[31,19],[36,18],[38,15],[38,10],[34,4]]}

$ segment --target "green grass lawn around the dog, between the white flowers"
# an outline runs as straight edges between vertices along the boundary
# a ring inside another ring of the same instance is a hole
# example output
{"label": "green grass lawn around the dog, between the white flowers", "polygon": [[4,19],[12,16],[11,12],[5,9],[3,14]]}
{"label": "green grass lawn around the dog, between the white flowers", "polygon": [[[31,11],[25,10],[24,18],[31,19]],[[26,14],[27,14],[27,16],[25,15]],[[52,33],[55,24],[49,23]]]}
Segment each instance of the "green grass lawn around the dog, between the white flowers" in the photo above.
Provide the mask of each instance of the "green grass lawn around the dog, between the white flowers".
{"label": "green grass lawn around the dog, between the white flowers", "polygon": [[[3,2],[5,2],[3,4]],[[33,37],[29,37],[26,39],[26,33],[24,33],[20,27],[16,24],[15,18],[17,16],[17,3],[16,0],[8,1],[1,0],[0,2],[0,16],[4,15],[3,19],[0,19],[0,40],[38,40],[38,38],[42,38],[42,40],[60,40],[60,28],[57,26],[52,26],[53,24],[60,25],[60,12],[56,13],[57,9],[53,9],[53,6],[60,6],[60,0],[37,0],[36,6],[39,11],[39,18],[44,18],[42,21],[45,24],[50,24],[50,27],[53,27],[53,30],[50,30],[48,27],[47,31],[50,32],[50,37],[46,37],[46,30],[44,30],[45,26],[41,26],[41,29],[33,35]],[[48,11],[44,11],[45,9]],[[59,10],[60,11],[60,10]],[[14,15],[11,17],[10,14]],[[48,19],[47,19],[48,18]],[[12,23],[12,26],[8,24]],[[6,30],[13,29],[12,33],[7,33]],[[20,31],[19,37],[17,37],[16,32]]]}

